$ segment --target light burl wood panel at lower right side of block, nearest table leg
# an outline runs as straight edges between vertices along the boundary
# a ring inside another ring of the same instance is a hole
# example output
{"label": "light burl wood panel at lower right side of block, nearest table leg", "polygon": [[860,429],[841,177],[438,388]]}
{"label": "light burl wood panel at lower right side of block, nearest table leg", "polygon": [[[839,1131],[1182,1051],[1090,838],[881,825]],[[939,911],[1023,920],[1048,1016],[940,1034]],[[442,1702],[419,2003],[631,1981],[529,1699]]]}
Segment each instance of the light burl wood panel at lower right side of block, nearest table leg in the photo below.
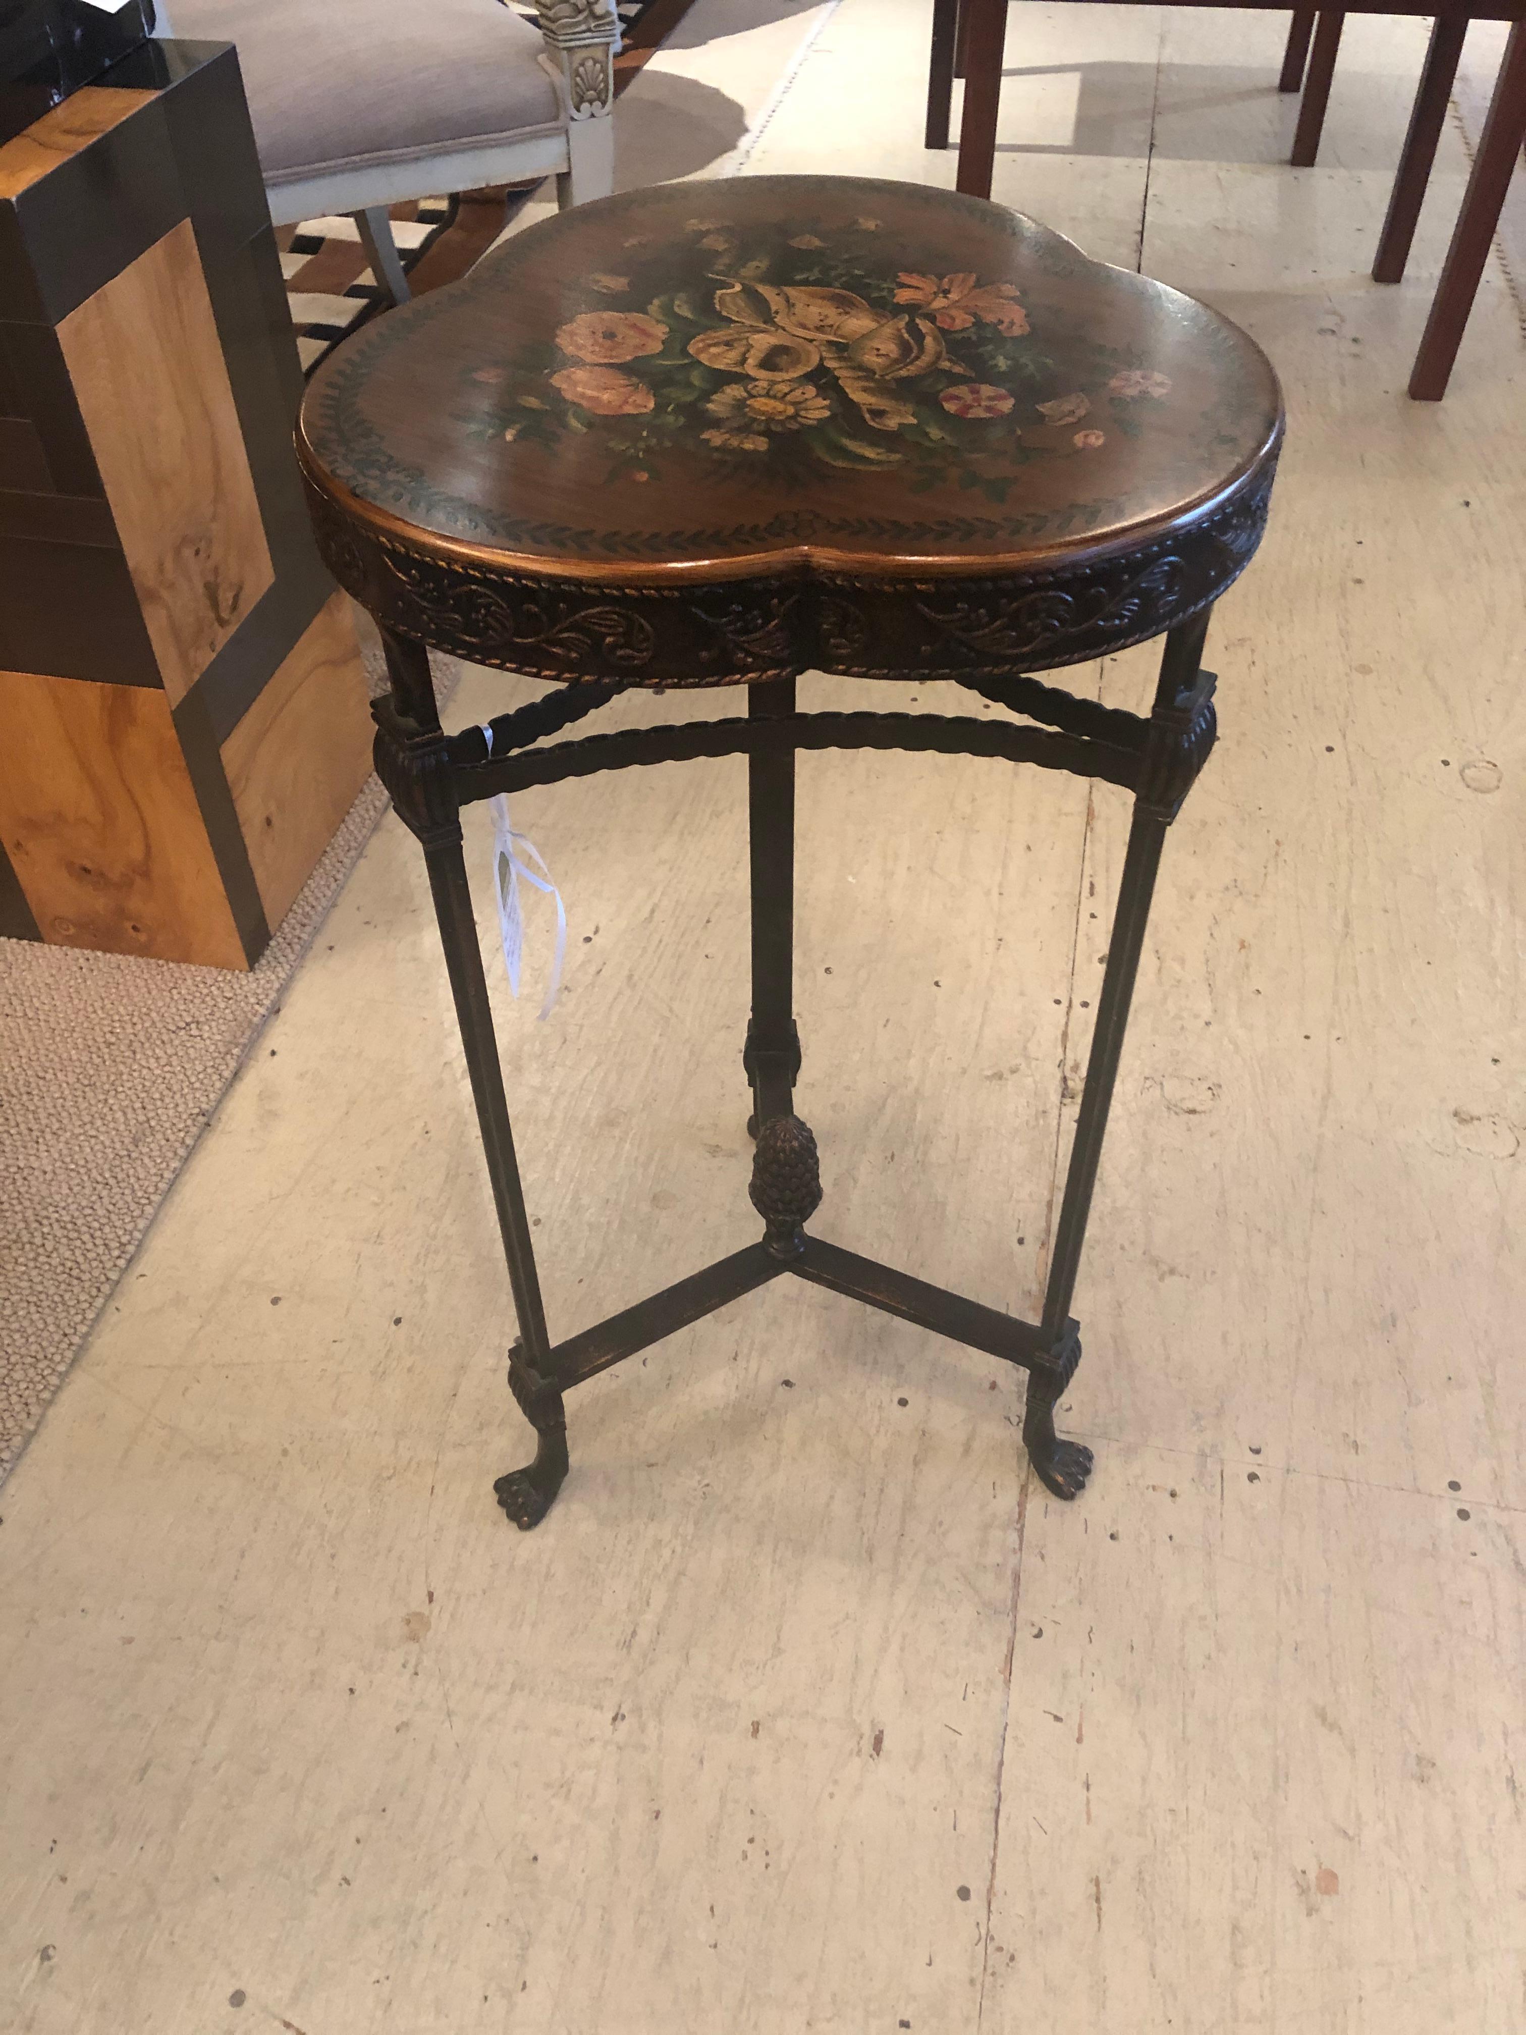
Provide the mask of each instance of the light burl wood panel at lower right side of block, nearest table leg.
{"label": "light burl wood panel at lower right side of block, nearest table leg", "polygon": [[222,745],[271,932],[370,773],[370,710],[350,602],[334,594]]}

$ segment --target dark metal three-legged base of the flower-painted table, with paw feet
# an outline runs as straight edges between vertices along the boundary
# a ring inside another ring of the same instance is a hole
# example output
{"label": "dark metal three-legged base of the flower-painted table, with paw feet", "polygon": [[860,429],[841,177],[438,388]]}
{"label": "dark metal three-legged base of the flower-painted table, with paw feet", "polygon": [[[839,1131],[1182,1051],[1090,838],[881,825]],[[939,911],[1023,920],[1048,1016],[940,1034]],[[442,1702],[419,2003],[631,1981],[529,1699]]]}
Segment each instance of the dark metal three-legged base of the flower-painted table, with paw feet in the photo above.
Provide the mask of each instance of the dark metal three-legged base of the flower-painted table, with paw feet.
{"label": "dark metal three-legged base of the flower-painted table, with paw feet", "polygon": [[[539,735],[547,726],[578,718],[590,702],[562,700],[555,712],[547,712],[541,702],[533,712],[521,708],[519,714],[494,722],[505,741],[503,757],[494,755],[476,731],[452,739],[442,733],[425,651],[403,639],[387,639],[393,698],[374,708],[376,767],[393,792],[399,816],[419,836],[429,867],[439,938],[519,1315],[519,1341],[509,1355],[509,1384],[539,1443],[533,1463],[498,1477],[494,1486],[498,1504],[515,1524],[535,1526],[568,1473],[566,1390],[785,1272],[1025,1368],[1030,1386],[1023,1441],[1034,1469],[1060,1498],[1074,1498],[1082,1490],[1091,1471],[1091,1451],[1056,1435],[1054,1408],[1080,1361],[1080,1335],[1070,1319],[1070,1302],[1160,851],[1166,828],[1215,741],[1215,680],[1202,670],[1209,613],[1180,623],[1166,637],[1148,720],[1121,710],[1084,706],[1044,686],[1023,698],[1038,704],[1060,733],[1019,722],[942,716],[798,714],[794,680],[769,680],[749,688],[745,720],[625,731],[560,743],[549,751],[533,749]],[[794,1085],[800,1074],[800,1038],[791,1007],[794,814],[800,747],[1007,755],[1013,761],[1040,761],[1103,777],[1129,786],[1135,794],[1087,1091],[1066,1170],[1040,1323],[1017,1321],[1003,1309],[962,1298],[806,1235],[804,1225],[820,1205],[822,1186],[816,1140],[794,1115]],[[753,1009],[743,1052],[753,1085],[757,1133],[749,1195],[763,1215],[765,1233],[759,1243],[732,1252],[718,1264],[551,1347],[466,883],[460,804],[488,798],[494,790],[555,783],[590,769],[623,769],[631,763],[739,751],[749,757],[753,906]]]}

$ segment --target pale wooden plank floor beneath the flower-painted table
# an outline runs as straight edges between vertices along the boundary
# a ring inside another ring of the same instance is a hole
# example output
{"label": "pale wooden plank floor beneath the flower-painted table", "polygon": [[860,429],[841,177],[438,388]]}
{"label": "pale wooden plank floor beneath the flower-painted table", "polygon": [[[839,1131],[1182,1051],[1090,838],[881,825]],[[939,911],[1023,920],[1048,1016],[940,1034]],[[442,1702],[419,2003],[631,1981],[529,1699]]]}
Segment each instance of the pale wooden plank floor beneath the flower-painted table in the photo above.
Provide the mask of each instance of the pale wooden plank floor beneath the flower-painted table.
{"label": "pale wooden plank floor beneath the flower-painted table", "polygon": [[[1422,35],[1347,24],[1294,175],[1282,26],[1013,10],[997,195],[1221,303],[1290,405],[1082,1272],[1091,1490],[1030,1484],[1013,1378],[787,1282],[582,1388],[509,1530],[509,1302],[389,820],[0,1498],[8,2029],[1526,2025],[1524,348],[1493,265],[1447,403],[1404,399],[1463,147],[1377,291]],[[844,0],[745,169],[952,181],[924,51]],[[1074,680],[1137,704],[1150,659]],[[549,1024],[492,969],[555,1329],[753,1233],[741,792],[517,802],[572,914]],[[1034,1304],[1123,816],[802,759],[824,1235]]]}

